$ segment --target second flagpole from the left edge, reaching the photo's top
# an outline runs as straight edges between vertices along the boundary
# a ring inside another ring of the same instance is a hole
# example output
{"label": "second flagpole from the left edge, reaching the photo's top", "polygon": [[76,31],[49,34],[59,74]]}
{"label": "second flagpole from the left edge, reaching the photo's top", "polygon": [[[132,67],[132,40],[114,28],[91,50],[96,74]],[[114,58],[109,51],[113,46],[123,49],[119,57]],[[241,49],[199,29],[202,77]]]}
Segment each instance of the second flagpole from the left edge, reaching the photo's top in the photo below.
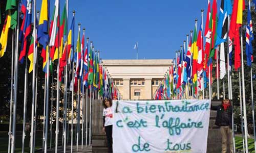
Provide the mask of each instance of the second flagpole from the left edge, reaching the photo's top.
{"label": "second flagpole from the left edge, reaching the photo's top", "polygon": [[[19,4],[19,0],[18,0]],[[13,121],[12,121],[12,142],[11,153],[15,151],[16,138],[16,110],[17,110],[17,87],[18,87],[18,34],[19,34],[19,7],[17,7],[17,32],[16,32],[16,53],[15,53],[15,73],[14,73],[14,103],[13,103]]]}

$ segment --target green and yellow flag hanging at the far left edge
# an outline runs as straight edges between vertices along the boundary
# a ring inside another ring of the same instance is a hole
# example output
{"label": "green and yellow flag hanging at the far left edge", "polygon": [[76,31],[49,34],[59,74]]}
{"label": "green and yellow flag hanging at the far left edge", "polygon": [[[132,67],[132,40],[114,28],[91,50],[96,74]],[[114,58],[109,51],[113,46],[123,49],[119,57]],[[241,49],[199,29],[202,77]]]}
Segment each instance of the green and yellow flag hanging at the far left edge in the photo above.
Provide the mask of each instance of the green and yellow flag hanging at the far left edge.
{"label": "green and yellow flag hanging at the far left edge", "polygon": [[0,36],[0,58],[4,56],[6,51],[9,28],[14,30],[17,25],[17,2],[15,0],[7,0],[6,11],[7,16]]}

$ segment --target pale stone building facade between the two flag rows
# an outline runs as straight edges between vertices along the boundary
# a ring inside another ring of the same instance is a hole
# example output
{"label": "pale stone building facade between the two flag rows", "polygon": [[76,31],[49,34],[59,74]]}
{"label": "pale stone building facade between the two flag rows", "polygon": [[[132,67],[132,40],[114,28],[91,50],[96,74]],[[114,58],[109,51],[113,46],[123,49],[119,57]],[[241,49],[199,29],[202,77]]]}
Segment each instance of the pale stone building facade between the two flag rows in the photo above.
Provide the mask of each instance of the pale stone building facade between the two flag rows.
{"label": "pale stone building facade between the two flag rows", "polygon": [[172,59],[102,60],[122,99],[153,99]]}

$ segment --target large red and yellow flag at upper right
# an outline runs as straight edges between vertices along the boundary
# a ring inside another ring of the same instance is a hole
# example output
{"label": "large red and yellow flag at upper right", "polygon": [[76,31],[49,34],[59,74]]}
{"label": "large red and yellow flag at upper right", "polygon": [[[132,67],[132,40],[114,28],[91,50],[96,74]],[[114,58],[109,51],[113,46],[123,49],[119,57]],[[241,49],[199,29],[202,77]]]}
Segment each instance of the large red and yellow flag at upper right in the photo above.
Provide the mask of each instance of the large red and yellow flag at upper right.
{"label": "large red and yellow flag at upper right", "polygon": [[239,28],[242,26],[244,10],[244,0],[234,0],[233,11],[231,14],[229,38],[233,40],[234,44],[234,69],[238,70],[241,66],[241,46],[239,39]]}

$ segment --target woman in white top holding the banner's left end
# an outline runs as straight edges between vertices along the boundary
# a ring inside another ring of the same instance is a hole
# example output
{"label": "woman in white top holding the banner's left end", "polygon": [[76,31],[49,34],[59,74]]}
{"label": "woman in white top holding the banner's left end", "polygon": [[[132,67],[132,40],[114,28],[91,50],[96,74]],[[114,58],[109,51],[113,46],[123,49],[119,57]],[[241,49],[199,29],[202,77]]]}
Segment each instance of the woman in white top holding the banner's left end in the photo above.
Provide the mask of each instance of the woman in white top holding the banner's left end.
{"label": "woman in white top holding the banner's left end", "polygon": [[103,132],[106,134],[106,140],[108,142],[108,152],[112,153],[112,122],[113,122],[113,112],[112,112],[112,100],[104,99],[103,104]]}

